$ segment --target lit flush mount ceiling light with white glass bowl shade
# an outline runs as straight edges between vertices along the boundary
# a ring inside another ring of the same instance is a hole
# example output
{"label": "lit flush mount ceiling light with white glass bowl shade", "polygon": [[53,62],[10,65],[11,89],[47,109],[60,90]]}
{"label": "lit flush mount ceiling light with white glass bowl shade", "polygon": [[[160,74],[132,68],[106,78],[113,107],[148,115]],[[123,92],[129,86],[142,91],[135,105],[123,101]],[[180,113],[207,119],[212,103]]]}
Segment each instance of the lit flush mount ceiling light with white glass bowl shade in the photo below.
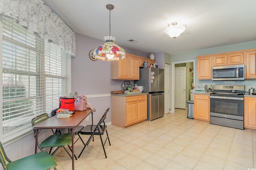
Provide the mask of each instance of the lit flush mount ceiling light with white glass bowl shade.
{"label": "lit flush mount ceiling light with white glass bowl shade", "polygon": [[180,36],[182,32],[186,30],[186,26],[186,24],[181,26],[178,25],[178,22],[173,22],[172,25],[168,24],[168,28],[164,30],[164,33],[168,34],[171,38],[175,40],[178,36]]}

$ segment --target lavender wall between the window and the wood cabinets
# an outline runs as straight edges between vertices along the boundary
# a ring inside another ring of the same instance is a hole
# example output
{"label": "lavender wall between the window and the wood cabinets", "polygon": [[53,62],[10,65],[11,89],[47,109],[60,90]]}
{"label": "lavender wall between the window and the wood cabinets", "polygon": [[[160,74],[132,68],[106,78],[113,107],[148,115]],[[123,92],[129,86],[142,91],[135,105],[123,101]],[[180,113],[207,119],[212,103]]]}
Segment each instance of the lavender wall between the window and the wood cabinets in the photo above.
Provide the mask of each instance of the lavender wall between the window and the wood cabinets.
{"label": "lavender wall between the window and the wood cabinets", "polygon": [[[105,120],[108,123],[111,122],[110,91],[121,90],[124,80],[111,80],[111,62],[90,59],[89,52],[103,43],[103,40],[76,34],[76,57],[72,57],[71,61],[71,87],[72,91],[77,91],[78,95],[87,96],[88,103],[96,109],[94,122],[98,122],[104,111],[110,107]],[[147,53],[123,48],[126,53],[142,57],[149,56]],[[89,123],[91,123],[91,117],[89,121],[82,122],[82,125]]]}

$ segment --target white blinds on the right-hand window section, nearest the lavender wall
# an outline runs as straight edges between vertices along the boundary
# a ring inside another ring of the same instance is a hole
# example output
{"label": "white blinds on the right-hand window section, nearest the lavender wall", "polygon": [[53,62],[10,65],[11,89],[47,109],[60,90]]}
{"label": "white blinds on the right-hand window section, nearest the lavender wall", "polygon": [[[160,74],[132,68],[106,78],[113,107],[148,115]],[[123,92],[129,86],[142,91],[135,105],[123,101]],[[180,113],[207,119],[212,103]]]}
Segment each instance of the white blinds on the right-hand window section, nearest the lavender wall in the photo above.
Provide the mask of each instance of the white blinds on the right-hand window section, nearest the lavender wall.
{"label": "white blinds on the right-hand window section, nearest the lavender wall", "polygon": [[44,52],[44,78],[46,111],[58,108],[60,95],[69,93],[69,71],[71,55],[60,50],[52,43],[45,43]]}

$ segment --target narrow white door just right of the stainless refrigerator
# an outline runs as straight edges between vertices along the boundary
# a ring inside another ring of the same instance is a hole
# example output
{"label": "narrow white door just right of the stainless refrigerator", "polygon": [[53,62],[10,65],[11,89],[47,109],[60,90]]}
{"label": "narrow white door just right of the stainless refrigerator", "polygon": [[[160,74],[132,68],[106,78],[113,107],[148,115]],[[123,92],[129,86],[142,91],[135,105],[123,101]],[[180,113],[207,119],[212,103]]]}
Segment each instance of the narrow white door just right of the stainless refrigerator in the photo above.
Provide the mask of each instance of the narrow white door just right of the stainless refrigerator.
{"label": "narrow white door just right of the stainless refrigerator", "polygon": [[170,113],[170,64],[164,65],[164,114]]}

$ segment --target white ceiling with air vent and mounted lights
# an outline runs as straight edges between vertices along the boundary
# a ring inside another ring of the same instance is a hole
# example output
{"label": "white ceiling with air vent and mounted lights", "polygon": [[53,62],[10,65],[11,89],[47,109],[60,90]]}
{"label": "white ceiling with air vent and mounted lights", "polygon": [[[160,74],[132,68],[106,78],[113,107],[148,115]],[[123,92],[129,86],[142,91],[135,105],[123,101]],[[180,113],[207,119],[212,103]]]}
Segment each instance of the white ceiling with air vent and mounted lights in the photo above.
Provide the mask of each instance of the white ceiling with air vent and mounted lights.
{"label": "white ceiling with air vent and mounted lights", "polygon": [[[176,54],[256,40],[256,0],[43,1],[75,33],[102,41],[109,35],[106,5],[113,4],[115,43],[145,53]],[[175,41],[164,33],[172,22],[187,25]]]}

